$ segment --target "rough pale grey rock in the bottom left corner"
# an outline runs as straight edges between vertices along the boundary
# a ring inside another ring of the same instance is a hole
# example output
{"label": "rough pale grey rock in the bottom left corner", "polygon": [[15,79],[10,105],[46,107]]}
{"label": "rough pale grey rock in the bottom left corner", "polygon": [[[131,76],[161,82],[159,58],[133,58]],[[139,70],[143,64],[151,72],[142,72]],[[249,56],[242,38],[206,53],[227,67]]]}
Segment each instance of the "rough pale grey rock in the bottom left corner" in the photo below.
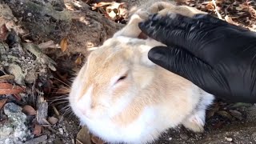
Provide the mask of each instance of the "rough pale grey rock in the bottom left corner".
{"label": "rough pale grey rock in the bottom left corner", "polygon": [[8,119],[0,124],[0,144],[19,144],[31,138],[30,130],[26,126],[26,114],[22,113],[22,107],[10,102],[6,103],[3,109]]}

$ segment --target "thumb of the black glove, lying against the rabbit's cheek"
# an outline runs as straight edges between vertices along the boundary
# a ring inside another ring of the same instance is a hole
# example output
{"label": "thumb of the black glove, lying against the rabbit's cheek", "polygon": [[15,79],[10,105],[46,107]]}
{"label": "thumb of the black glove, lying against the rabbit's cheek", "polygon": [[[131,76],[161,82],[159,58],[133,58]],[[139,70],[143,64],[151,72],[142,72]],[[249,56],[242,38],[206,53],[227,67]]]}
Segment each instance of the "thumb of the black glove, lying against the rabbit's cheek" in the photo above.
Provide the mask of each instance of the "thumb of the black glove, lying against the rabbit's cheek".
{"label": "thumb of the black glove, lying against the rabbit's cheek", "polygon": [[225,97],[230,92],[221,74],[186,50],[156,46],[149,51],[148,57],[158,66],[188,79],[210,94]]}

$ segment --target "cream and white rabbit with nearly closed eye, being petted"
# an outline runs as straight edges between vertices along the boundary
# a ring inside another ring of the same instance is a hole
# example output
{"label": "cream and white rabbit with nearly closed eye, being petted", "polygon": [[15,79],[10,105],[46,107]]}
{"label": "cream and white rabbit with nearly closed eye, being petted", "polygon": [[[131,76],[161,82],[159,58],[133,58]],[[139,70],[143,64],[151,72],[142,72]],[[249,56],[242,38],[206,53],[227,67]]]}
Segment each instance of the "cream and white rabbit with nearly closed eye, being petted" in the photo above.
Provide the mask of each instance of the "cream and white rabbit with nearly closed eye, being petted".
{"label": "cream and white rabbit with nearly closed eye, being petted", "polygon": [[[162,9],[168,6],[182,14],[189,10],[170,3]],[[138,10],[127,26],[91,52],[71,87],[74,114],[106,142],[153,142],[178,125],[202,132],[206,108],[214,100],[192,82],[150,62],[148,51],[165,45],[138,38],[138,22],[148,15]]]}

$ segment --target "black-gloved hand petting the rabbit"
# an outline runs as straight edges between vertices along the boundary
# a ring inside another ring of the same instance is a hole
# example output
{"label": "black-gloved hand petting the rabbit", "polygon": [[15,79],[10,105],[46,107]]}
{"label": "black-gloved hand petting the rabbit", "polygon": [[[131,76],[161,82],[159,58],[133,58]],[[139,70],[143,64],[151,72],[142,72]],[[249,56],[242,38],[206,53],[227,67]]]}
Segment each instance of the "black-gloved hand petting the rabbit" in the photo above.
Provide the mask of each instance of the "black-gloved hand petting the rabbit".
{"label": "black-gloved hand petting the rabbit", "polygon": [[168,46],[150,60],[230,102],[256,102],[256,33],[209,14],[150,16],[143,33]]}

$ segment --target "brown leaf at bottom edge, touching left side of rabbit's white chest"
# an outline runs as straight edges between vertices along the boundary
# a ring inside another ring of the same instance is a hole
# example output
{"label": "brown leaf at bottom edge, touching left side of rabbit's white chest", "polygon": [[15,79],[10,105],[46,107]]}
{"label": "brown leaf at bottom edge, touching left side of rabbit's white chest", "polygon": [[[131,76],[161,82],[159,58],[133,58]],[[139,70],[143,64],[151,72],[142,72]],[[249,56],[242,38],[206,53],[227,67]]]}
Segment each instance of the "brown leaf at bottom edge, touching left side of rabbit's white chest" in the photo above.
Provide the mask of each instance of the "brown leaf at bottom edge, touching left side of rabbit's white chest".
{"label": "brown leaf at bottom edge, touching left side of rabbit's white chest", "polygon": [[82,126],[82,129],[79,130],[76,142],[81,144],[91,144],[89,130],[86,126]]}

